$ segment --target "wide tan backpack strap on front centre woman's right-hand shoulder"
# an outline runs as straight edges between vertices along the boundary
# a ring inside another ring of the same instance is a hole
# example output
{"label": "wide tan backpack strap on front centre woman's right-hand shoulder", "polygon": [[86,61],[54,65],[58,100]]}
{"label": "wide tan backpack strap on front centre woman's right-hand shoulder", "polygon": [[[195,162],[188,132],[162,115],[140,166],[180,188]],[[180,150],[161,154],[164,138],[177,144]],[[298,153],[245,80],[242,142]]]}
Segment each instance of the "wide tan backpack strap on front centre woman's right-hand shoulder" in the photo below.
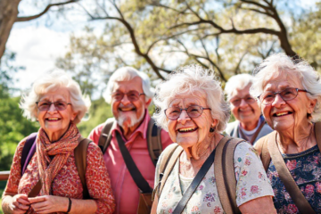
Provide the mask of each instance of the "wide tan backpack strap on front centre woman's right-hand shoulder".
{"label": "wide tan backpack strap on front centre woman's right-hand shoulder", "polygon": [[236,177],[234,152],[243,139],[230,136],[223,137],[217,146],[214,160],[214,175],[218,186],[218,197],[226,213],[241,213],[236,205]]}

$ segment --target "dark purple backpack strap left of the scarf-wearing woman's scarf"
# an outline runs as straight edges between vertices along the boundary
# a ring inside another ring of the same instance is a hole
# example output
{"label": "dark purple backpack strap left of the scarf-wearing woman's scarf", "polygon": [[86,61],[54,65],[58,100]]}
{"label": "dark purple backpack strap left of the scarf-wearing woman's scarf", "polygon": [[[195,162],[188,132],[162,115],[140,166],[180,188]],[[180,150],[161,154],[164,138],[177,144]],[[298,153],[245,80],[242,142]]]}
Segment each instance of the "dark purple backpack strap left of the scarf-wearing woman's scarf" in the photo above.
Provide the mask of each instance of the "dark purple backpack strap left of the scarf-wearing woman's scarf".
{"label": "dark purple backpack strap left of the scarf-wearing woman's scarf", "polygon": [[26,171],[31,158],[36,152],[37,132],[32,133],[27,137],[26,143],[23,146],[21,153],[21,177]]}

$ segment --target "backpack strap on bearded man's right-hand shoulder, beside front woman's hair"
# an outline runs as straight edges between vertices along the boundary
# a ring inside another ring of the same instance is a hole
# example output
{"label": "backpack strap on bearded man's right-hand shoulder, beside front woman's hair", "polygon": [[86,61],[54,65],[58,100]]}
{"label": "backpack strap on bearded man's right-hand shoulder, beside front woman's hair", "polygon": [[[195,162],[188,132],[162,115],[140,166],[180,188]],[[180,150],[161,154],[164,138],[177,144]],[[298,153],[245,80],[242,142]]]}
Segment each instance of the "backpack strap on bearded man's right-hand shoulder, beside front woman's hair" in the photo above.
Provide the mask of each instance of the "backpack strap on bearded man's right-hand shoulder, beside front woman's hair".
{"label": "backpack strap on bearded man's right-hand shoulder, beside front woman's hair", "polygon": [[150,153],[152,163],[156,167],[158,158],[162,152],[161,146],[161,128],[158,128],[154,119],[150,119],[147,128],[147,148]]}

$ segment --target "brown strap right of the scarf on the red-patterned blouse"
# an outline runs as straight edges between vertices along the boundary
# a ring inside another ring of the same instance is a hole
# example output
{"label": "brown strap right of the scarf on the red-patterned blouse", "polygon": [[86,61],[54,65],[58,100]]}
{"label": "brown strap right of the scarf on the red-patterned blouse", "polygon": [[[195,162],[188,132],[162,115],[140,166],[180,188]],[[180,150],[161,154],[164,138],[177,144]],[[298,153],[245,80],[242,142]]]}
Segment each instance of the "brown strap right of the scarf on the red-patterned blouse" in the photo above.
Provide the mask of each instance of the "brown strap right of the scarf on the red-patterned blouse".
{"label": "brown strap right of the scarf on the red-patterned blouse", "polygon": [[80,136],[78,138],[78,142],[79,144],[74,151],[76,167],[81,180],[81,184],[83,186],[84,199],[90,199],[88,188],[86,186],[86,152],[88,145],[92,141],[83,136]]}

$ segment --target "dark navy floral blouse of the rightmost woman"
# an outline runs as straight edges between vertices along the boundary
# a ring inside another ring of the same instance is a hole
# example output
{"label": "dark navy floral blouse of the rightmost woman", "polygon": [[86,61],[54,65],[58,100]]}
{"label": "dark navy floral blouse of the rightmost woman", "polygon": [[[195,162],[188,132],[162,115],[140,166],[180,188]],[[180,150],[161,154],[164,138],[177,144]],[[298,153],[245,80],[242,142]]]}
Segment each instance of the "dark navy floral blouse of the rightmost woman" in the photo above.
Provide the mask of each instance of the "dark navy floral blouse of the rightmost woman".
{"label": "dark navy floral blouse of the rightmost woman", "polygon": [[[300,191],[317,213],[321,213],[321,153],[317,145],[295,154],[282,154],[287,168]],[[300,213],[284,183],[277,174],[273,161],[268,167],[268,178],[276,195],[274,204],[277,213]]]}

